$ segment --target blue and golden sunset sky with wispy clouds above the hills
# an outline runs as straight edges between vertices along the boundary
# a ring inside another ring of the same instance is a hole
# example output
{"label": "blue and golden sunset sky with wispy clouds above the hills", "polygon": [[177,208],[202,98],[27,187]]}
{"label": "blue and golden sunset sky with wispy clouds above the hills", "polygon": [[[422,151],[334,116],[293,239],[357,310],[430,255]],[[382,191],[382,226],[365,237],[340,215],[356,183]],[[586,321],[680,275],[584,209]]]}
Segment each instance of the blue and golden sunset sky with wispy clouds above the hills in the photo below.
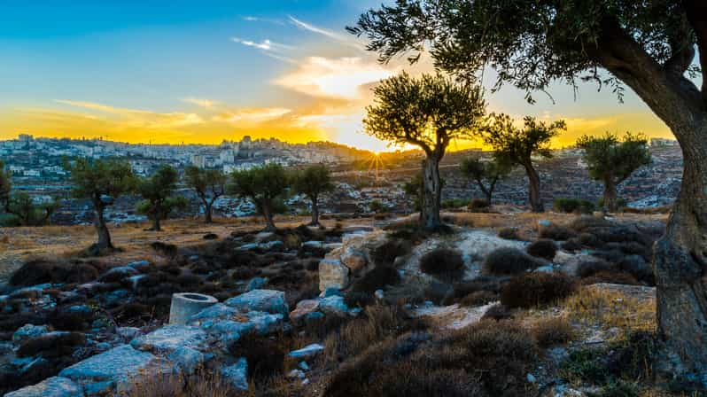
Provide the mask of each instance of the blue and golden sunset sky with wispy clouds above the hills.
{"label": "blue and golden sunset sky with wispy clouds above the hills", "polygon": [[[0,0],[0,140],[19,134],[131,143],[218,144],[276,137],[390,150],[361,126],[370,90],[423,57],[388,65],[346,33],[391,0]],[[493,84],[493,74],[486,76]],[[554,85],[535,105],[506,86],[489,112],[567,121],[557,147],[583,134],[671,137],[626,90]],[[476,145],[456,142],[452,149]]]}

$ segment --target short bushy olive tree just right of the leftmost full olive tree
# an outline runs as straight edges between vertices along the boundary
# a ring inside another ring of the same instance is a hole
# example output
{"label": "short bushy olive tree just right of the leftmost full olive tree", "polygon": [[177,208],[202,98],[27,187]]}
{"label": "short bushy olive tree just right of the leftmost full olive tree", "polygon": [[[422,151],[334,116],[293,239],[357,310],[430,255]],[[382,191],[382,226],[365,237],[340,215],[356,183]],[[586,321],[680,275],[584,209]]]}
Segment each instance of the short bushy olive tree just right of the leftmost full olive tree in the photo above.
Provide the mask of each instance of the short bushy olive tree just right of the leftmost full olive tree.
{"label": "short bushy olive tree just right of the leftmost full olive tree", "polygon": [[159,167],[153,175],[137,184],[137,192],[143,201],[137,204],[137,212],[147,215],[152,222],[152,231],[162,230],[160,222],[180,208],[188,206],[187,199],[175,196],[179,173],[171,166]]}

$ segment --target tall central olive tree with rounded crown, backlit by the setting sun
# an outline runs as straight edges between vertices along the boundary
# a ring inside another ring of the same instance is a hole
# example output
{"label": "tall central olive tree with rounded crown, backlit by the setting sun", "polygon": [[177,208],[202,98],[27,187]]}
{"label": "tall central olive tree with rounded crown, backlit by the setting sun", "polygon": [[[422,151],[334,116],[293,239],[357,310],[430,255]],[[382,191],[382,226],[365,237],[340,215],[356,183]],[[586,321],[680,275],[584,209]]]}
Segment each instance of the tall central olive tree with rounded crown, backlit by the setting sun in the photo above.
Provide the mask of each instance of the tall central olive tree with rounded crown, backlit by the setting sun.
{"label": "tall central olive tree with rounded crown, backlit by the setting sun", "polygon": [[421,226],[436,229],[442,183],[439,161],[455,139],[470,137],[486,113],[482,90],[441,74],[419,78],[402,73],[373,89],[375,104],[366,108],[366,132],[392,144],[413,144],[423,150]]}

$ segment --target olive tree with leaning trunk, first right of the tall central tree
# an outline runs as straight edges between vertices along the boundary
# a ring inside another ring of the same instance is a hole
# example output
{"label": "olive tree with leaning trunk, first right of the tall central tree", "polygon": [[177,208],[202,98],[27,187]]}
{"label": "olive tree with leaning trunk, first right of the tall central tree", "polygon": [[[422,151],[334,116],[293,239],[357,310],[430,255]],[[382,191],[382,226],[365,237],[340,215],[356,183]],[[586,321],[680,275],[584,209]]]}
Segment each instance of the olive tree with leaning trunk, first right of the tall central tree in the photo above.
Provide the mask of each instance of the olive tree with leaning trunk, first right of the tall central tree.
{"label": "olive tree with leaning trunk, first right of the tall central tree", "polygon": [[493,156],[505,163],[517,164],[528,176],[528,199],[533,212],[544,211],[540,199],[540,175],[532,156],[552,157],[550,141],[567,129],[564,121],[545,123],[527,116],[524,128],[517,128],[507,114],[492,114],[484,128],[484,140],[493,147]]}

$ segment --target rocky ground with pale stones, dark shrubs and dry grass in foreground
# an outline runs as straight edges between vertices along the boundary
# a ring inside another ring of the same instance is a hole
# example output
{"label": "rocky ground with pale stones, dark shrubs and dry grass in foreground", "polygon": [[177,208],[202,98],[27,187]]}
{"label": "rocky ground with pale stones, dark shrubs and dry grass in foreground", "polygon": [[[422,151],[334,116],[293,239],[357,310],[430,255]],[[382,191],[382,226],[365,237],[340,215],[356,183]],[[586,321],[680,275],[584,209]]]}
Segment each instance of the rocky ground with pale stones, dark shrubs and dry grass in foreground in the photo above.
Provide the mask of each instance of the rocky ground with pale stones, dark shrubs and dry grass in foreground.
{"label": "rocky ground with pale stones, dark shrubs and dry grass in foreground", "polygon": [[[445,219],[435,234],[413,218],[291,220],[110,258],[16,253],[2,393],[671,395],[647,381],[663,215]],[[175,292],[218,303],[167,325]]]}

